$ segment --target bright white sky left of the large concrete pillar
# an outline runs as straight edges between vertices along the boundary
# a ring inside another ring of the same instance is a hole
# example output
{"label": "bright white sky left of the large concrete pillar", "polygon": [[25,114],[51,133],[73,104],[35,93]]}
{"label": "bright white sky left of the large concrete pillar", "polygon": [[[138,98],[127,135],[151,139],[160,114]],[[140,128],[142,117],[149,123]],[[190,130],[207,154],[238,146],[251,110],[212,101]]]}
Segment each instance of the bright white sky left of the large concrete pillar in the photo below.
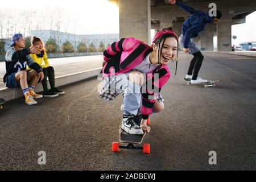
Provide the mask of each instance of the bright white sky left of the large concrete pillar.
{"label": "bright white sky left of the large concrete pillar", "polygon": [[[36,15],[61,10],[67,12],[62,21],[69,23],[69,32],[75,34],[102,34],[119,32],[118,6],[107,0],[11,0],[1,2],[1,9],[36,11]],[[40,8],[39,8],[40,7]],[[32,16],[34,16],[33,14]],[[76,26],[76,28],[73,28]],[[74,30],[75,29],[75,30]]]}

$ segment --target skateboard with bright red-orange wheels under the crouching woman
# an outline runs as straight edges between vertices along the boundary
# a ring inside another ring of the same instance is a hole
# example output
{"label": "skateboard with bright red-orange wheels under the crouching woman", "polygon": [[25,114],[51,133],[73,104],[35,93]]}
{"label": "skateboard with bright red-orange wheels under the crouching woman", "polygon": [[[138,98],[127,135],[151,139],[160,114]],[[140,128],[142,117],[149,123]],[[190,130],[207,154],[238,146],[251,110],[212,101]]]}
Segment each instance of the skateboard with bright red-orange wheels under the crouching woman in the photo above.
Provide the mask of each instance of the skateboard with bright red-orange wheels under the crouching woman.
{"label": "skateboard with bright red-orange wheels under the crouching woman", "polygon": [[[150,124],[150,119],[147,120],[147,125]],[[143,132],[142,135],[133,135],[129,134],[123,129],[119,129],[119,142],[112,143],[112,151],[119,152],[119,148],[126,148],[126,149],[139,149],[143,150],[144,154],[150,154],[150,144],[144,143],[143,147],[137,146],[136,144],[141,144],[144,137],[146,135],[146,131]],[[121,143],[126,143],[125,145]]]}

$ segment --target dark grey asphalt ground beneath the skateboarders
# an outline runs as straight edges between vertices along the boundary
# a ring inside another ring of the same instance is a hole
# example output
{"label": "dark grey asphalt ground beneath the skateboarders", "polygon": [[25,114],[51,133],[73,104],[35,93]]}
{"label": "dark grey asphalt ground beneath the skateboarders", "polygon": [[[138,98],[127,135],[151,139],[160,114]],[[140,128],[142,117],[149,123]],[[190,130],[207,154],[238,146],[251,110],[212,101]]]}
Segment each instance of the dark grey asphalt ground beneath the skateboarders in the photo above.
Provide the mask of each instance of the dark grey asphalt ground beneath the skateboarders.
{"label": "dark grey asphalt ground beneath the skateboarders", "polygon": [[[111,151],[122,97],[101,100],[93,78],[35,106],[23,98],[7,102],[0,110],[0,169],[255,170],[256,60],[205,54],[200,76],[221,82],[203,88],[183,81],[190,59],[180,54],[176,78],[162,89],[165,110],[152,115],[144,140],[150,155]],[[46,166],[38,165],[39,151],[46,151]],[[216,151],[217,165],[209,165],[209,151]]]}

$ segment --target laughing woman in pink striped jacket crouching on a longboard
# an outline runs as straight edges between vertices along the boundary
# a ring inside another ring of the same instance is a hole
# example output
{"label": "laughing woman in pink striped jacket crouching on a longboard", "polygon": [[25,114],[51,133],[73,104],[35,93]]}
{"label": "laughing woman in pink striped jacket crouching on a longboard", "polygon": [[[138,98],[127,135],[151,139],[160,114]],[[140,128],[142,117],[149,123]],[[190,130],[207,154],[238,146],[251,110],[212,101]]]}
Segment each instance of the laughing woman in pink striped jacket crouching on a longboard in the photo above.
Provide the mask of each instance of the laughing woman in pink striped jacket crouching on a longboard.
{"label": "laughing woman in pink striped jacket crouching on a longboard", "polygon": [[177,35],[172,28],[164,28],[155,34],[152,46],[135,38],[123,38],[104,51],[100,97],[113,101],[123,94],[121,129],[127,133],[150,132],[148,116],[164,109],[159,92],[171,76],[168,63],[177,58],[177,49]]}

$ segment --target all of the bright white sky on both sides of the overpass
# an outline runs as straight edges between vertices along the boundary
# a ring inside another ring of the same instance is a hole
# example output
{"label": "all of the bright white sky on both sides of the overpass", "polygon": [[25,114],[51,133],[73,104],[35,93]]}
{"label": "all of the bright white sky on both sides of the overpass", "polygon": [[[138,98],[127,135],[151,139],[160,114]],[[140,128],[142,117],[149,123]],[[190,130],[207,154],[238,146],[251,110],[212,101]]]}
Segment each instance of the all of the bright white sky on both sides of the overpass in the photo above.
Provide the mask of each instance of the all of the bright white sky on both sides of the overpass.
{"label": "all of the bright white sky on both sides of the overpass", "polygon": [[[44,0],[40,3],[34,0],[12,0],[2,3],[1,9],[14,9],[13,5],[19,5],[15,7],[17,11],[36,11],[37,16],[44,16],[48,12],[46,10],[54,12],[60,9],[65,13],[65,17],[61,20],[65,22],[69,19],[68,32],[72,34],[119,32],[118,6],[107,0]],[[238,45],[240,42],[256,41],[255,30],[256,11],[246,16],[246,23],[232,26],[232,35],[237,36],[236,40],[232,40],[232,44]]]}

